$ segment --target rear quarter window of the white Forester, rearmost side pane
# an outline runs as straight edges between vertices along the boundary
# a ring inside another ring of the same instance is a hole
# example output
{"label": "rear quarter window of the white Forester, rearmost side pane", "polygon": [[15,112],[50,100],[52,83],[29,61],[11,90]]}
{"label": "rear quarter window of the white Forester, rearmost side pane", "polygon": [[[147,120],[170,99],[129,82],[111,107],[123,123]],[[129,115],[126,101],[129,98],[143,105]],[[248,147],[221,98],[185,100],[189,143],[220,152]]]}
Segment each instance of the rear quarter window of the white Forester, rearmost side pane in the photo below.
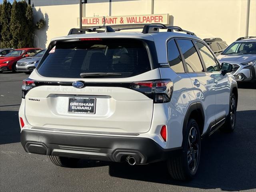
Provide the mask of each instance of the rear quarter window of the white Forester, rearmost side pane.
{"label": "rear quarter window of the white Forester, rearmost side pane", "polygon": [[176,73],[184,73],[184,67],[182,64],[182,59],[180,56],[180,52],[177,48],[177,45],[174,39],[170,40],[167,45],[168,48],[168,62],[169,66]]}

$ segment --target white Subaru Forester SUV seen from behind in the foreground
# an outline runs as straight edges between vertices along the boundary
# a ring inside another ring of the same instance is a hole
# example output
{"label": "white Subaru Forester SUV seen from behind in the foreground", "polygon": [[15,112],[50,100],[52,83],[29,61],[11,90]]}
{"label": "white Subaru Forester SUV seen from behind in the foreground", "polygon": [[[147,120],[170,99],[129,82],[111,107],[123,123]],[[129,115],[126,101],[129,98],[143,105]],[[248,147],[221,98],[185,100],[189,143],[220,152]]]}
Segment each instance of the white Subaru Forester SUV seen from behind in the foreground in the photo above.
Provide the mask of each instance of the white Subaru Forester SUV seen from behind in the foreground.
{"label": "white Subaru Forester SUV seen from behind in the foreground", "polygon": [[50,42],[23,81],[22,146],[66,167],[79,158],[166,161],[172,178],[189,180],[201,138],[234,130],[232,65],[220,67],[204,41],[179,27],[120,30],[71,29]]}

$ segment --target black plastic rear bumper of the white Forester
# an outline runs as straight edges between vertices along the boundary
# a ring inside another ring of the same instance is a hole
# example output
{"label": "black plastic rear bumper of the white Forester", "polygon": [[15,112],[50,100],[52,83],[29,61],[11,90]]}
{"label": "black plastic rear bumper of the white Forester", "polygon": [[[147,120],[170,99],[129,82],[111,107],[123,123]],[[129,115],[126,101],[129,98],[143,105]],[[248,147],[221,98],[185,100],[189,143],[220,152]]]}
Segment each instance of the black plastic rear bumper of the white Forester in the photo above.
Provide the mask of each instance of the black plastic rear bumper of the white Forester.
{"label": "black plastic rear bumper of the white Forester", "polygon": [[165,160],[181,154],[182,148],[163,149],[154,140],[141,137],[99,136],[22,130],[21,144],[26,152],[121,162],[133,156],[136,164]]}

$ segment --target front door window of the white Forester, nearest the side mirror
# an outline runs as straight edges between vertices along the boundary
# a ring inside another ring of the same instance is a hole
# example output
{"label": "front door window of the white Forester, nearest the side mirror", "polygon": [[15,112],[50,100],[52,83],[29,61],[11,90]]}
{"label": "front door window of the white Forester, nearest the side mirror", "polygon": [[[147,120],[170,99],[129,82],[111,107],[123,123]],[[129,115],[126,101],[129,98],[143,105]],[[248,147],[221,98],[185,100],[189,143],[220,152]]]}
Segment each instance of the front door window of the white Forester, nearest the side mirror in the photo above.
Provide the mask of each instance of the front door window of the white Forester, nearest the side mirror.
{"label": "front door window of the white Forester, nearest the side mirror", "polygon": [[214,56],[210,52],[210,50],[202,43],[196,41],[196,46],[198,47],[200,54],[204,60],[204,64],[206,66],[206,70],[208,72],[219,71],[218,65],[214,59]]}

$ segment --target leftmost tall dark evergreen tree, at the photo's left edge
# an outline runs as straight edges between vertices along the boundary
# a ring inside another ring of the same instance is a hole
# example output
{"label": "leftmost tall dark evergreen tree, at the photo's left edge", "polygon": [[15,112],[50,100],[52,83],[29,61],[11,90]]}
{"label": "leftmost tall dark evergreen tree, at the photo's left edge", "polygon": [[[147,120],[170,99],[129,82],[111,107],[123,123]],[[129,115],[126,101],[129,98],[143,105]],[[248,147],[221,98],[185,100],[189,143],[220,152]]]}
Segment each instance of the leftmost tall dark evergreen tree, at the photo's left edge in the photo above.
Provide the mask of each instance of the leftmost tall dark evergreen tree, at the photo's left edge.
{"label": "leftmost tall dark evergreen tree, at the photo's left edge", "polygon": [[12,5],[7,0],[4,0],[1,8],[0,21],[2,24],[0,47],[12,48],[11,40],[12,34],[10,33],[10,18],[11,18]]}

